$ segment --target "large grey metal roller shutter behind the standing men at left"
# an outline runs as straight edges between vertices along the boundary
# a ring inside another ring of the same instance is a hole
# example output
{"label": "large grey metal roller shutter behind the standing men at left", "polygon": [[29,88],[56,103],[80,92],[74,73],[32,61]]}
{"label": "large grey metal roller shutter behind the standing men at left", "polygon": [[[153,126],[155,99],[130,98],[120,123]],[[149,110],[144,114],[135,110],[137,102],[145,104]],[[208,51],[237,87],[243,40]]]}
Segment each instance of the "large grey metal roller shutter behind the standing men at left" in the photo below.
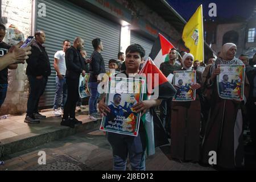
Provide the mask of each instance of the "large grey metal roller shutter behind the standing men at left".
{"label": "large grey metal roller shutter behind the standing men at left", "polygon": [[109,59],[116,59],[119,52],[121,26],[68,1],[38,0],[36,7],[39,3],[46,5],[46,17],[37,17],[36,30],[46,33],[45,46],[52,68],[52,75],[39,105],[52,106],[56,89],[53,56],[62,49],[63,40],[69,39],[72,43],[76,36],[81,36],[85,40],[89,58],[93,52],[92,40],[100,38],[104,45],[102,56],[108,70]]}

